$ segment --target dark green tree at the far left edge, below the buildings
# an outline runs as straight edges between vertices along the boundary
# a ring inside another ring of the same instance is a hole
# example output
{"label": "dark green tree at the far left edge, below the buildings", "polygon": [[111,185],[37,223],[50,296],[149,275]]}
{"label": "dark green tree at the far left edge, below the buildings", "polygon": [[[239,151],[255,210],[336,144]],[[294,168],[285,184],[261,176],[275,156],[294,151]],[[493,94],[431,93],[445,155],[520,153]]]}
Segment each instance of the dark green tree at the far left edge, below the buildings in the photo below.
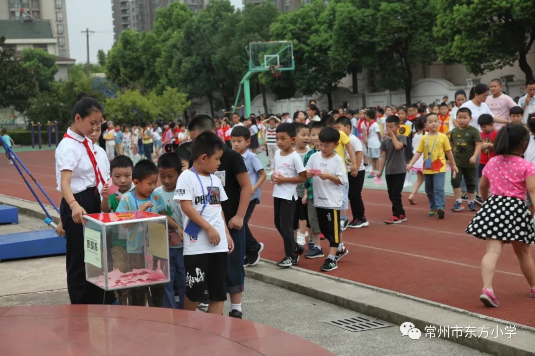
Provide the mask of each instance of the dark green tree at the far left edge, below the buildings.
{"label": "dark green tree at the far left edge, below the buildings", "polygon": [[37,93],[35,74],[15,58],[14,50],[4,46],[0,36],[0,107],[14,107],[24,112],[28,100]]}

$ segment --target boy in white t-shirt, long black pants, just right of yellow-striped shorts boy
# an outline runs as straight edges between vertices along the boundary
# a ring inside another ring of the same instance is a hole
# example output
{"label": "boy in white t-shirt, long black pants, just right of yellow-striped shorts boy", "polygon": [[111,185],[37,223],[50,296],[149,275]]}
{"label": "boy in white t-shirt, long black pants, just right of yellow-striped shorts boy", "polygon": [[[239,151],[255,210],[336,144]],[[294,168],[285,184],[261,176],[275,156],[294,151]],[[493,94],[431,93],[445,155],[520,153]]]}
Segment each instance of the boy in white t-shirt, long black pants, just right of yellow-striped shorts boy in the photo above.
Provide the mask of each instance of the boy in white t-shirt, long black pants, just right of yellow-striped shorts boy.
{"label": "boy in white t-shirt, long black pants, just right of yellow-striped shorts boy", "polygon": [[[355,152],[355,161],[358,167],[358,175],[356,177],[351,176],[351,161],[349,159],[349,153],[346,152],[346,170],[348,184],[344,185],[344,199],[342,201],[342,216],[346,216],[347,208],[344,211],[344,207],[347,207],[347,201],[351,204],[351,213],[353,213],[353,219],[346,220],[347,223],[341,220],[342,231],[347,227],[360,228],[370,225],[364,216],[364,202],[362,201],[362,187],[364,185],[364,176],[366,174],[366,168],[364,167],[362,156],[362,143],[353,133],[351,133],[351,122],[347,117],[339,117],[334,125],[334,128],[338,131],[344,132],[349,137],[349,143],[353,147]],[[346,201],[347,193],[347,201]],[[344,226],[345,225],[345,226]]]}

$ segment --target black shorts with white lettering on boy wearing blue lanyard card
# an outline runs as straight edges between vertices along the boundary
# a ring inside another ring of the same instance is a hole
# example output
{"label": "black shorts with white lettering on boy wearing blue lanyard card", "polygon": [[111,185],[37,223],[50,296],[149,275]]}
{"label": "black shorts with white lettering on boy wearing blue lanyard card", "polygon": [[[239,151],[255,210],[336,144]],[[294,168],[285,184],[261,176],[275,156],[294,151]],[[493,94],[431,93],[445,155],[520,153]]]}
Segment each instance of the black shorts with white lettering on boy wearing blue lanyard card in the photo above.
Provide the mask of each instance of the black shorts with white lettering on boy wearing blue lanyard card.
{"label": "black shorts with white lettering on boy wearing blue lanyard card", "polygon": [[227,300],[227,255],[227,252],[215,252],[184,256],[189,300],[199,302],[205,290],[209,300]]}

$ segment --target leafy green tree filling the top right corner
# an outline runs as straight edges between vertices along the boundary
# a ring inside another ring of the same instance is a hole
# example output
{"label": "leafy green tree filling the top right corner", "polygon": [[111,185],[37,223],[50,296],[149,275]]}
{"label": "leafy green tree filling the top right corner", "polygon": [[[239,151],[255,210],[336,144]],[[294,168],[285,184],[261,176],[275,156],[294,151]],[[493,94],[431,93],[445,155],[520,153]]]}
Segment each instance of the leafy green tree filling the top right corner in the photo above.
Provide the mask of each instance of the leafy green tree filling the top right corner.
{"label": "leafy green tree filling the top right corner", "polygon": [[532,0],[435,0],[439,17],[433,32],[444,62],[458,62],[482,75],[518,65],[533,79],[526,59],[535,41],[535,6]]}

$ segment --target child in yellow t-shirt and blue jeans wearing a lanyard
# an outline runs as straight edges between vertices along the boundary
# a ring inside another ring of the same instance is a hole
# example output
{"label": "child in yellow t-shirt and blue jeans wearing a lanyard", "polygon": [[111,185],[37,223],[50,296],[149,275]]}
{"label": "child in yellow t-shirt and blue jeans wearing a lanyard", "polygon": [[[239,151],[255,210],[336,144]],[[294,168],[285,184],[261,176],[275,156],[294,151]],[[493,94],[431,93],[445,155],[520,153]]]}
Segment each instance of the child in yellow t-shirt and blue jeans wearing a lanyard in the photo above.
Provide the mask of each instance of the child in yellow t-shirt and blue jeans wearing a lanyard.
{"label": "child in yellow t-shirt and blue jeans wearing a lanyard", "polygon": [[416,149],[416,154],[407,165],[407,172],[410,172],[412,165],[424,155],[424,181],[425,193],[429,199],[430,211],[427,216],[438,215],[439,219],[444,219],[446,214],[446,196],[444,194],[444,184],[446,180],[446,156],[452,165],[452,175],[458,173],[455,160],[453,158],[452,147],[444,133],[438,132],[439,118],[437,114],[427,114],[425,117],[427,132]]}

